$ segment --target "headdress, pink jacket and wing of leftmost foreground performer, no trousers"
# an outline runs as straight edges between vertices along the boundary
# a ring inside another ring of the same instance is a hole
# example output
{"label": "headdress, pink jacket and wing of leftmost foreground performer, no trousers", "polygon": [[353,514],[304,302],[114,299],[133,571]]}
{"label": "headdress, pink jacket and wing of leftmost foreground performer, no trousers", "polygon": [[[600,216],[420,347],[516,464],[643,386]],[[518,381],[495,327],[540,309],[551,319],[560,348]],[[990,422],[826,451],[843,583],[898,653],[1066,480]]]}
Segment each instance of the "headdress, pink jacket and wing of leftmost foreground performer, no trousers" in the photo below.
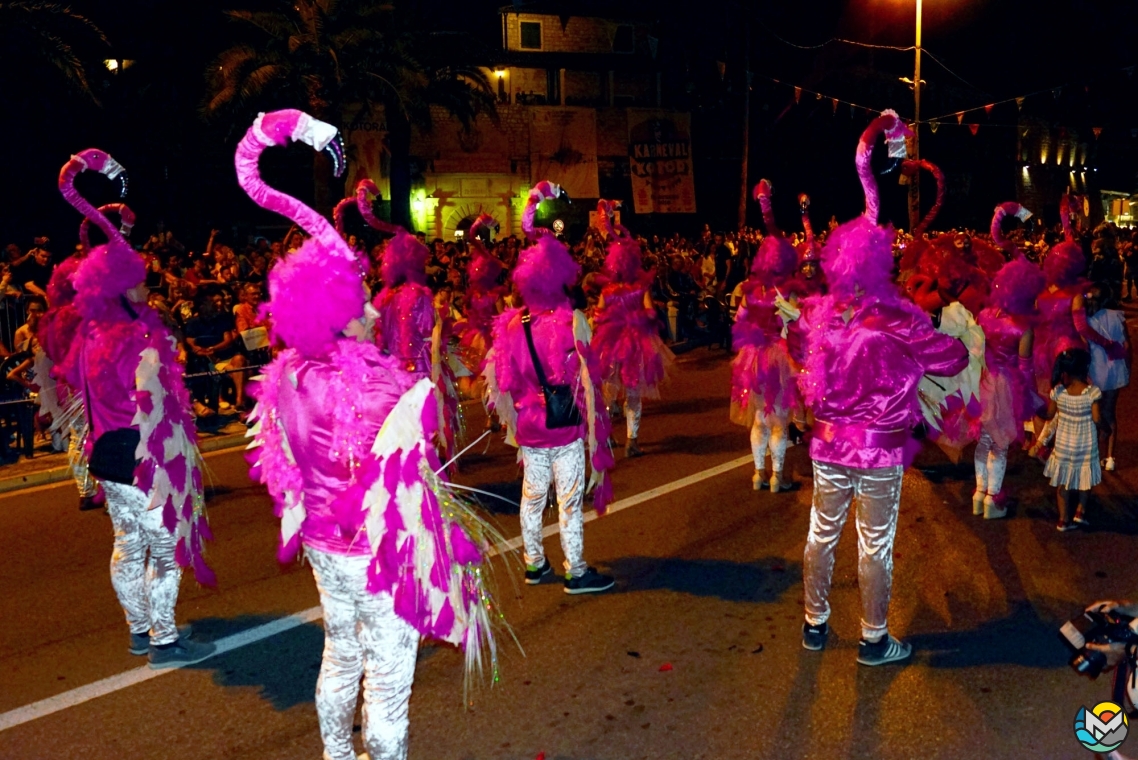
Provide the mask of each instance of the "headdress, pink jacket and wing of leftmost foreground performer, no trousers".
{"label": "headdress, pink jacket and wing of leftmost foreground performer, no trousers", "polygon": [[139,430],[134,485],[150,496],[149,509],[162,510],[163,523],[178,539],[178,563],[192,567],[198,581],[212,586],[216,578],[203,557],[203,545],[212,535],[201,455],[178,342],[157,312],[127,299],[127,291],[145,281],[146,265],[118,229],[79,195],[75,177],[88,170],[125,179],[115,159],[93,148],[73,156],[59,174],[59,191],[67,203],[107,236],[107,242],[90,248],[71,276],[82,322],[65,361],[66,379],[88,402],[89,447],[105,432]]}

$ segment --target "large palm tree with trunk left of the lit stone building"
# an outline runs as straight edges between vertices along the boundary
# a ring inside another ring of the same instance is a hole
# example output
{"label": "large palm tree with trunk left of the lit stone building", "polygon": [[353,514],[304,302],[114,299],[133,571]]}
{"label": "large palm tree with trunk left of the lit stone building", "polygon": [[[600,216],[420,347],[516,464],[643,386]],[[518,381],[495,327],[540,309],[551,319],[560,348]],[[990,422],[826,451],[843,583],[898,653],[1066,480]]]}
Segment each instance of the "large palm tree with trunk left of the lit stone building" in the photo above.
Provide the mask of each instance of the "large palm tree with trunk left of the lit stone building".
{"label": "large palm tree with trunk left of the lit stone building", "polygon": [[[399,224],[411,220],[412,126],[430,130],[432,105],[464,127],[481,113],[496,118],[486,76],[473,66],[451,65],[455,47],[436,42],[412,13],[389,2],[281,0],[277,10],[226,15],[253,39],[212,65],[205,117],[236,126],[258,110],[294,107],[343,123],[351,111],[382,105],[391,218]],[[330,198],[321,203],[318,196],[318,204],[329,205]]]}

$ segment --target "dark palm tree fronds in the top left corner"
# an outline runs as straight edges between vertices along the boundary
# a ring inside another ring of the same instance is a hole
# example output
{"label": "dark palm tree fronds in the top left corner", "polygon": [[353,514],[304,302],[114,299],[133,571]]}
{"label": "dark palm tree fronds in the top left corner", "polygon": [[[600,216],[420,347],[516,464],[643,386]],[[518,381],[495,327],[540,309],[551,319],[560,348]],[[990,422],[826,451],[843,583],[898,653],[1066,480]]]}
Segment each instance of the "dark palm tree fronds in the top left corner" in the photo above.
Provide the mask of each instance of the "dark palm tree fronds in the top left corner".
{"label": "dark palm tree fronds in the top left corner", "polygon": [[[107,38],[85,16],[67,6],[41,0],[0,2],[0,71],[5,79],[27,81],[28,63],[56,69],[73,92],[98,102],[84,58],[107,48]],[[8,72],[15,74],[9,77]],[[34,90],[39,90],[34,86]],[[10,88],[3,88],[11,92]]]}

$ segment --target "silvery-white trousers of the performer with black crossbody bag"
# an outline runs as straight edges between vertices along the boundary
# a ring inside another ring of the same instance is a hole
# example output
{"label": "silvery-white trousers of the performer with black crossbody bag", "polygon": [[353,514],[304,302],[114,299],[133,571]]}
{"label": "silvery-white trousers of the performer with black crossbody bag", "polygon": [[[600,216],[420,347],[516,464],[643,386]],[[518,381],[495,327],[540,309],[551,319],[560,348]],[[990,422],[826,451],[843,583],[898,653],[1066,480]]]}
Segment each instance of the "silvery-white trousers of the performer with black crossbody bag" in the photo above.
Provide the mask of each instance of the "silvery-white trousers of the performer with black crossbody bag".
{"label": "silvery-white trousers of the performer with black crossbody bag", "polygon": [[536,568],[545,562],[542,512],[553,482],[558,491],[566,575],[585,575],[585,522],[580,511],[585,501],[585,441],[577,439],[552,448],[522,446],[521,466],[521,539],[526,564]]}

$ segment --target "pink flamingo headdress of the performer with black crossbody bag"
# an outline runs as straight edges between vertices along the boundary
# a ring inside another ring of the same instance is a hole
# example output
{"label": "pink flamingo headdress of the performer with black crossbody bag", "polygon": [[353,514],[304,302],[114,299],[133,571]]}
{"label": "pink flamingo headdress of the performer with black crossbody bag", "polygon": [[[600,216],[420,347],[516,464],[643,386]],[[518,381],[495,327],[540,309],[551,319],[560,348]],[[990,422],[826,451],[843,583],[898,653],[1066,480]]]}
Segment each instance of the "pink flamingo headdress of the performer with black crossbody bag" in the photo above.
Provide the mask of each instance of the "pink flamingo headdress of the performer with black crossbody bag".
{"label": "pink flamingo headdress of the performer with black crossbody bag", "polygon": [[511,279],[518,286],[526,306],[546,311],[569,304],[567,288],[577,281],[580,266],[569,255],[569,248],[552,231],[534,226],[534,215],[543,200],[562,197],[561,188],[543,180],[529,191],[521,229],[535,245],[518,256]]}

